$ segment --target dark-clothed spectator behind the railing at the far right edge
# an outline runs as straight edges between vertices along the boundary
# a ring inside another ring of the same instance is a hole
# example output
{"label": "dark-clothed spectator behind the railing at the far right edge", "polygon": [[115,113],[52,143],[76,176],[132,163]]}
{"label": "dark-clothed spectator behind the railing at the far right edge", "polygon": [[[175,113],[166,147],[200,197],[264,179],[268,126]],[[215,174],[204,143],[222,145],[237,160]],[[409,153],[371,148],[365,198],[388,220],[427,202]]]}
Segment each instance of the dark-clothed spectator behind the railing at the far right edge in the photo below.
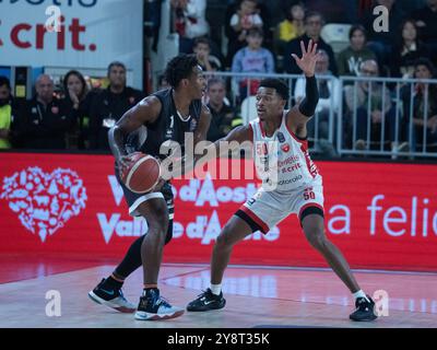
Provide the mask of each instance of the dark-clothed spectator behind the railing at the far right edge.
{"label": "dark-clothed spectator behind the railing at the far right edge", "polygon": [[[418,59],[415,65],[415,79],[435,79],[436,70],[429,59]],[[415,84],[413,95],[411,86],[401,90],[403,102],[403,117],[406,124],[408,139],[412,151],[437,152],[437,84],[418,82]],[[413,114],[410,116],[411,103],[413,102]],[[425,109],[427,106],[427,109]],[[425,119],[426,115],[426,119]],[[425,121],[426,120],[426,121]],[[413,122],[413,132],[410,138],[410,124]],[[424,144],[424,128],[426,126],[426,144]]]}

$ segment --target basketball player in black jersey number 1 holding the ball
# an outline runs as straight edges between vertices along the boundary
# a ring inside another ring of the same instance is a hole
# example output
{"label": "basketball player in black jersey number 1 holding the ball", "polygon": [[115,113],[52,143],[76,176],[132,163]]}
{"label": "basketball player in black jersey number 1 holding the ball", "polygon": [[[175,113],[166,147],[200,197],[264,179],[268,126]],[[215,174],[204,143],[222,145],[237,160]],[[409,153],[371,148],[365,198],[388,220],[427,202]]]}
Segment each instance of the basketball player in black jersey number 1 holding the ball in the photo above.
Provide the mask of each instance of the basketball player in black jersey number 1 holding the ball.
{"label": "basketball player in black jersey number 1 holding the ball", "polygon": [[134,151],[165,159],[160,154],[162,144],[166,141],[184,144],[186,132],[193,133],[196,145],[205,139],[211,121],[208,107],[201,103],[206,84],[196,56],[180,55],[172,59],[165,78],[172,88],[142,100],[109,130],[116,176],[123,189],[129,214],[143,217],[147,233],[133,242],[111,276],[88,293],[99,304],[132,313],[135,307],[125,299],[121,287],[130,273],[143,266],[144,290],[135,313],[135,318],[141,320],[174,318],[184,313],[184,308],[172,306],[161,298],[157,288],[163,248],[173,233],[173,192],[169,183],[161,180],[153,191],[134,194],[120,182],[120,172],[129,164],[129,154]]}

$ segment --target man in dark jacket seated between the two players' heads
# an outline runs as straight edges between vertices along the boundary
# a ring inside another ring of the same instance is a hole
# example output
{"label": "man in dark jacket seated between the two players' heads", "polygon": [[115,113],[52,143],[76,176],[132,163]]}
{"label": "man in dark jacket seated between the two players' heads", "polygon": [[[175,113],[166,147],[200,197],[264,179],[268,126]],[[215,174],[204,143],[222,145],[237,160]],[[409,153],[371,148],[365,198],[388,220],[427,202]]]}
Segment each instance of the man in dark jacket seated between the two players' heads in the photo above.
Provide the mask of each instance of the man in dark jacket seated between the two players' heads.
{"label": "man in dark jacket seated between the two players' heads", "polygon": [[223,80],[217,78],[210,79],[208,81],[206,95],[209,98],[208,107],[212,116],[206,140],[214,142],[240,125],[241,119],[235,119],[234,108],[225,104],[226,85]]}

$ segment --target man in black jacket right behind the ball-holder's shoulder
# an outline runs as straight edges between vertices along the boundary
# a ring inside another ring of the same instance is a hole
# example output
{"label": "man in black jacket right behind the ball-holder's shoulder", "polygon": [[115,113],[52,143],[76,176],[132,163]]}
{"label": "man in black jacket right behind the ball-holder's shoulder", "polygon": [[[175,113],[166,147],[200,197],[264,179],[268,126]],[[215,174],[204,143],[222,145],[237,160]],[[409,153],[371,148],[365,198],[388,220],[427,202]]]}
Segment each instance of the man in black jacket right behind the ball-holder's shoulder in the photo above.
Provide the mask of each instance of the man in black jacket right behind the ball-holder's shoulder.
{"label": "man in black jacket right behind the ball-holder's shoulder", "polygon": [[143,92],[126,85],[126,67],[111,62],[108,67],[109,86],[93,96],[90,108],[90,145],[93,150],[107,150],[108,130],[122,115],[139,103]]}

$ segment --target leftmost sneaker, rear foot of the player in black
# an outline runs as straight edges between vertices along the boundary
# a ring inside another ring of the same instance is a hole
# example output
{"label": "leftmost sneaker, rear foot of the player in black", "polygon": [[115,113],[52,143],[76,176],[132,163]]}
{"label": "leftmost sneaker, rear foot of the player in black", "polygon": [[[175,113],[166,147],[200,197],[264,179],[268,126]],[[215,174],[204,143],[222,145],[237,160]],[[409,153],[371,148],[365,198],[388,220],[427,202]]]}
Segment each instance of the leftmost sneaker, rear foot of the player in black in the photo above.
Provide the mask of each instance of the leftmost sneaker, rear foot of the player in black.
{"label": "leftmost sneaker, rear foot of the player in black", "polygon": [[104,285],[104,283],[105,279],[88,292],[88,296],[92,301],[115,308],[120,313],[133,313],[137,310],[135,305],[127,301],[121,289],[114,289]]}

